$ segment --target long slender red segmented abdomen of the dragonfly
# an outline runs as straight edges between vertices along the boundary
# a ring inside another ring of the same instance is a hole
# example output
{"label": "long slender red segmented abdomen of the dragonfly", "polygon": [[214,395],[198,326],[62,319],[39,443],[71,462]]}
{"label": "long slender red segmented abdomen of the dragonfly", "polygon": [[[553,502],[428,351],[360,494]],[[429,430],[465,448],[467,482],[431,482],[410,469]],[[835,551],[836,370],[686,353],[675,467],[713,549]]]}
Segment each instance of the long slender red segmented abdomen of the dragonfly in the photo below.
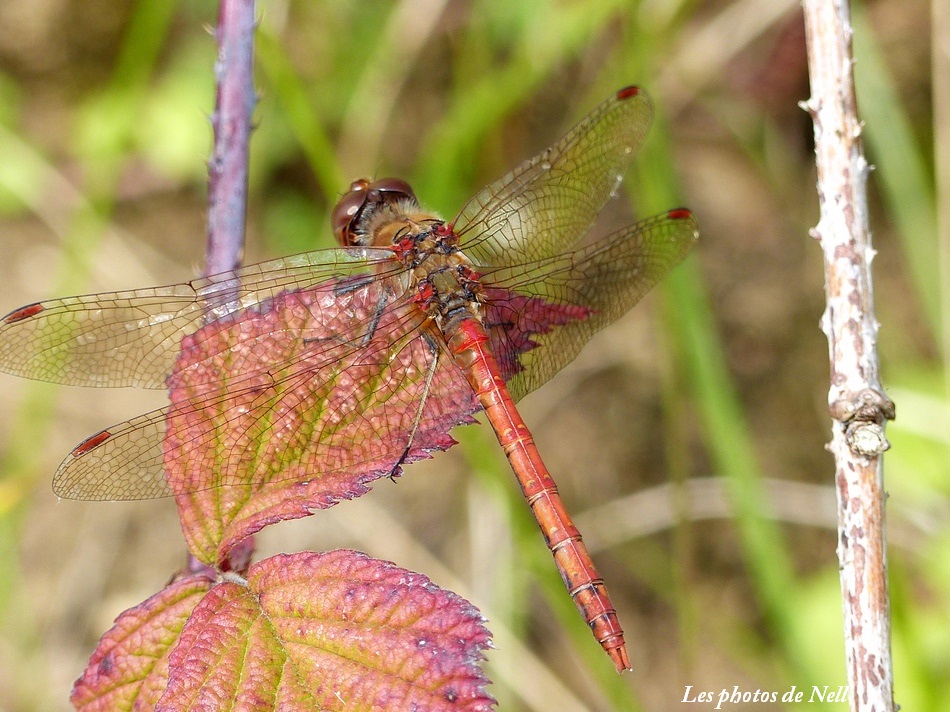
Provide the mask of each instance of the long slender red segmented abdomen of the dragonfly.
{"label": "long slender red segmented abdomen of the dragonfly", "polygon": [[531,431],[515,407],[504,380],[497,375],[501,370],[492,354],[488,334],[474,317],[455,321],[446,332],[449,351],[485,409],[571,598],[594,638],[614,661],[617,671],[629,670],[623,629],[607,588],[564,507],[554,478],[541,460]]}

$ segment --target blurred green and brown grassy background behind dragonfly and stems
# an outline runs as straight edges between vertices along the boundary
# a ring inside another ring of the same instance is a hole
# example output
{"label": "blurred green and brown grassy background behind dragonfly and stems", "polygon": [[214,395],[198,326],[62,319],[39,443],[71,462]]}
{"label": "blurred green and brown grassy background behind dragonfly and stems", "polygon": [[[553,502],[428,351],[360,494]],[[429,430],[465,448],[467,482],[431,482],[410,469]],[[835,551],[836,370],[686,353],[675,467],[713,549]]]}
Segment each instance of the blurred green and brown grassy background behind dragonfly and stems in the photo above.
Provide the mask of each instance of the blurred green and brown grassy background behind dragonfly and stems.
{"label": "blurred green and brown grassy background behind dragonfly and stems", "polygon": [[[661,289],[523,403],[608,581],[632,673],[616,676],[577,617],[486,427],[457,431],[461,447],[398,485],[273,528],[259,555],[355,547],[468,596],[496,634],[505,710],[663,710],[688,685],[844,684],[799,4],[272,0],[259,13],[247,262],[330,246],[328,211],[364,175],[406,177],[450,216],[630,83],[657,118],[605,226],[687,205],[702,229]],[[200,270],[215,19],[211,0],[0,3],[0,312]],[[930,7],[877,0],[854,19],[898,408],[885,460],[895,691],[904,709],[943,710],[950,285]],[[65,709],[98,636],[182,564],[171,502],[57,502],[49,489],[75,443],[162,402],[0,374],[0,709]]]}

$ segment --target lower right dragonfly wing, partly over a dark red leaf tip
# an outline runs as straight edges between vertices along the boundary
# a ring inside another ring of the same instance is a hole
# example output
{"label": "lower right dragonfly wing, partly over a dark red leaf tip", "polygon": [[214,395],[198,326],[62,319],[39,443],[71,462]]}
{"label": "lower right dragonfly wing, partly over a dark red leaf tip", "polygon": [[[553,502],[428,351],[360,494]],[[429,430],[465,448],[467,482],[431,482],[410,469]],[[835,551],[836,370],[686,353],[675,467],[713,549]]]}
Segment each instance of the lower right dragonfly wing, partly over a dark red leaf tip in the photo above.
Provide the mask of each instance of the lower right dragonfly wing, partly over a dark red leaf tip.
{"label": "lower right dragonfly wing, partly over a dark red leaf tip", "polygon": [[486,322],[512,396],[573,361],[685,258],[698,235],[688,210],[671,210],[576,252],[485,273]]}

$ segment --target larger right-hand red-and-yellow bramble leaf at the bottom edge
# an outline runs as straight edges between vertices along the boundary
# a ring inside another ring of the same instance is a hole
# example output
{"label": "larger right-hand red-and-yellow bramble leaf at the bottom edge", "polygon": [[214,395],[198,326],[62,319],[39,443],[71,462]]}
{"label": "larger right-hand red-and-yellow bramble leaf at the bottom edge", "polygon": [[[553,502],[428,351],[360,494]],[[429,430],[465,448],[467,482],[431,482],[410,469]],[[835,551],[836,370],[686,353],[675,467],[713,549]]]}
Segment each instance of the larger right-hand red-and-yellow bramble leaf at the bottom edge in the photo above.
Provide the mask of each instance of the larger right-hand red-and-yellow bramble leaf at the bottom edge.
{"label": "larger right-hand red-and-yellow bramble leaf at the bottom edge", "polygon": [[281,555],[217,584],[156,709],[490,710],[478,611],[353,551]]}

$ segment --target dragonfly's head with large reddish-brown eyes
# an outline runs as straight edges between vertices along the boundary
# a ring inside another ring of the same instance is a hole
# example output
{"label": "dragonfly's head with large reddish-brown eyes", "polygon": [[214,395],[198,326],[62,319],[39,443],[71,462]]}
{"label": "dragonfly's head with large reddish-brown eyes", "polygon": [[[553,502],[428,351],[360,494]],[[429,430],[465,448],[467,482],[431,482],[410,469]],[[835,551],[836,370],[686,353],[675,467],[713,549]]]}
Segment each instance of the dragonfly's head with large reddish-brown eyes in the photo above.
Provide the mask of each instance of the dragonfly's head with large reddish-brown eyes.
{"label": "dragonfly's head with large reddish-brown eyes", "polygon": [[372,245],[372,225],[391,222],[419,211],[412,187],[399,178],[353,181],[333,209],[330,222],[337,242],[344,247]]}

